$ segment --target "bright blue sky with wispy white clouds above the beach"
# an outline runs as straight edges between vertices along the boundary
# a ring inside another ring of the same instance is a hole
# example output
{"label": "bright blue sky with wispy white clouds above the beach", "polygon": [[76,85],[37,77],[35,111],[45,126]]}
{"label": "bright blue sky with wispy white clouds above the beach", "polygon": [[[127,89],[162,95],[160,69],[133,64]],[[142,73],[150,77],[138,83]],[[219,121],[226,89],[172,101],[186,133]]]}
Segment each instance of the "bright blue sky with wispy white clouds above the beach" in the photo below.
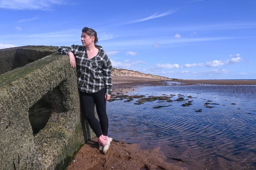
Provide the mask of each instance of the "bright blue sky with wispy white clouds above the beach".
{"label": "bright blue sky with wispy white clouds above the beach", "polygon": [[0,0],[0,49],[79,44],[113,67],[182,79],[256,79],[256,1]]}

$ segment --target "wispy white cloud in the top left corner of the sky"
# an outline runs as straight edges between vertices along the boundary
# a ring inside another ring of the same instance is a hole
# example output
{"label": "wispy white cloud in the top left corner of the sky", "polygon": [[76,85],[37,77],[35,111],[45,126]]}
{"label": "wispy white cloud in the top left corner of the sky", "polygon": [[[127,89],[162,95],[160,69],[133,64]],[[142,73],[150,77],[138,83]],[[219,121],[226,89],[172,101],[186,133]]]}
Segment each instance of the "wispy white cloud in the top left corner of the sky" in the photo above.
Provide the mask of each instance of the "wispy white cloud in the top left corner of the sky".
{"label": "wispy white cloud in the top left corner of the sky", "polygon": [[48,10],[52,5],[62,5],[62,0],[2,0],[0,8],[15,10]]}

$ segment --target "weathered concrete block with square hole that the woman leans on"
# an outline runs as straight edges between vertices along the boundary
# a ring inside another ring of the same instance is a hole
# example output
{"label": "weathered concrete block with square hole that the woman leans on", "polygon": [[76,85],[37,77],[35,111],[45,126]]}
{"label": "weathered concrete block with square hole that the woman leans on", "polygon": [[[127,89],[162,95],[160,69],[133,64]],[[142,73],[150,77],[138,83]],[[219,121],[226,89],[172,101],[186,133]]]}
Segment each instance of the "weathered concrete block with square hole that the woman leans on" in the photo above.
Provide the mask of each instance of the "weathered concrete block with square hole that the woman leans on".
{"label": "weathered concrete block with square hole that the woman leans on", "polygon": [[[80,109],[76,74],[68,57],[55,53],[0,75],[0,169],[63,168],[95,137]],[[42,100],[52,112],[33,136],[30,116]]]}

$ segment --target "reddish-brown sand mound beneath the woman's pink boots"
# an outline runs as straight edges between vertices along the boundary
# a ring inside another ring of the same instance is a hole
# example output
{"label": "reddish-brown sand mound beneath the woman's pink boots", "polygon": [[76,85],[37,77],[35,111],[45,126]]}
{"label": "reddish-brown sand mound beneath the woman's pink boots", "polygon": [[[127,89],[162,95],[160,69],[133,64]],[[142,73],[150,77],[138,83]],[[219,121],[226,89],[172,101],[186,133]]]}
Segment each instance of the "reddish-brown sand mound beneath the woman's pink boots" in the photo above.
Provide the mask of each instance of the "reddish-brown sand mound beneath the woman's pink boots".
{"label": "reddish-brown sand mound beneath the woman's pink boots", "polygon": [[98,150],[98,138],[86,143],[76,154],[67,170],[100,170],[100,169],[176,169],[185,168],[165,162],[166,158],[159,147],[142,150],[138,144],[124,141],[111,142],[106,155]]}

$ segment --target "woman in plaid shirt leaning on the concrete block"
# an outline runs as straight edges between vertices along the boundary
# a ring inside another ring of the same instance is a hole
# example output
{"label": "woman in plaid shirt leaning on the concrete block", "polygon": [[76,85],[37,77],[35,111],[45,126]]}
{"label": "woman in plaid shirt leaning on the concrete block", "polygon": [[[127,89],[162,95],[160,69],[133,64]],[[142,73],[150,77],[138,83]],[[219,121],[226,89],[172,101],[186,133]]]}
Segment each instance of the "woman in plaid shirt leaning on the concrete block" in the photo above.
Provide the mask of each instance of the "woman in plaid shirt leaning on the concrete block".
{"label": "woman in plaid shirt leaning on the concrete block", "polygon": [[[71,67],[77,65],[77,80],[84,116],[98,137],[99,150],[106,154],[111,137],[108,137],[106,102],[110,99],[111,62],[98,42],[97,33],[84,27],[81,35],[82,46],[60,46],[58,52],[69,56]],[[76,59],[75,59],[76,58]],[[94,116],[94,105],[100,122]]]}

